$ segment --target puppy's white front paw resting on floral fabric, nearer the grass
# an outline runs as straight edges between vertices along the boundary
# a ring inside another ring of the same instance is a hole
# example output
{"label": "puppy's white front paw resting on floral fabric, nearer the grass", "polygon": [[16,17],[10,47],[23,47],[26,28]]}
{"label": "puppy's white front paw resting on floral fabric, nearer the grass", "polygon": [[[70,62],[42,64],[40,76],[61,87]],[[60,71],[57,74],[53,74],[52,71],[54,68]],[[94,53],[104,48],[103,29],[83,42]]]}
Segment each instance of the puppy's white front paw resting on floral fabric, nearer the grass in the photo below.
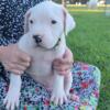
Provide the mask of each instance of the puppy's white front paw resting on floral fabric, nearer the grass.
{"label": "puppy's white front paw resting on floral fabric, nearer the grass", "polygon": [[64,90],[55,90],[52,92],[51,101],[56,106],[62,106],[64,102],[67,102],[67,97]]}

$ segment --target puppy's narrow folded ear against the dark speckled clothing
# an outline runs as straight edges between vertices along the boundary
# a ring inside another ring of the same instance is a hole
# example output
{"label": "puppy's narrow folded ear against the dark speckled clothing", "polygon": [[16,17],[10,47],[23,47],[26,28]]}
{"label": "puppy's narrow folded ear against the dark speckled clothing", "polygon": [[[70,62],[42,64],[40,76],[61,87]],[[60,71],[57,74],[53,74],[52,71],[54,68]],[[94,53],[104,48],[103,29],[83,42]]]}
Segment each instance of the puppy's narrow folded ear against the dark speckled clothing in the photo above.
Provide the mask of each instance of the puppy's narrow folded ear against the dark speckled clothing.
{"label": "puppy's narrow folded ear against the dark speckled clothing", "polygon": [[24,15],[24,34],[29,32],[29,18],[31,15],[31,9]]}

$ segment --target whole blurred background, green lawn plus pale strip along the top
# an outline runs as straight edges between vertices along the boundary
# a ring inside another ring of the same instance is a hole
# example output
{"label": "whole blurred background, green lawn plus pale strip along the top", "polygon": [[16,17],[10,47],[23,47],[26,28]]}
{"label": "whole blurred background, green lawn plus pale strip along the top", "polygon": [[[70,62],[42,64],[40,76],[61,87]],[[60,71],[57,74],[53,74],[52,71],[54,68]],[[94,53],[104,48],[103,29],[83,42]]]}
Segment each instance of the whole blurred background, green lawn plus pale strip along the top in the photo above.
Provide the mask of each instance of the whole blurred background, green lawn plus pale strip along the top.
{"label": "whole blurred background, green lawn plus pale strip along the top", "polygon": [[101,70],[98,110],[110,110],[110,0],[53,0],[63,3],[76,21],[67,37],[75,61]]}

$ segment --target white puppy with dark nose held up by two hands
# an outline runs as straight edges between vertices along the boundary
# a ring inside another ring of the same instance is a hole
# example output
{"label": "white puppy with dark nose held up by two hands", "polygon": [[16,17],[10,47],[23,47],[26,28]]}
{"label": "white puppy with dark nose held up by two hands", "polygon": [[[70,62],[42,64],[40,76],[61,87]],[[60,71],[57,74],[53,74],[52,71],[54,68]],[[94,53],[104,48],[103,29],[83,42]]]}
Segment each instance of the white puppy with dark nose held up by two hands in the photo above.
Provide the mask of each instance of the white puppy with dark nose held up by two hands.
{"label": "white puppy with dark nose held up by two hands", "polygon": [[[28,73],[32,78],[52,89],[51,100],[56,105],[67,101],[72,87],[72,74],[61,76],[52,68],[55,58],[66,51],[65,35],[75,28],[75,21],[61,4],[44,1],[25,14],[25,34],[18,45],[32,57]],[[70,73],[70,72],[69,72]],[[11,74],[10,87],[4,99],[7,109],[19,106],[21,76]]]}

